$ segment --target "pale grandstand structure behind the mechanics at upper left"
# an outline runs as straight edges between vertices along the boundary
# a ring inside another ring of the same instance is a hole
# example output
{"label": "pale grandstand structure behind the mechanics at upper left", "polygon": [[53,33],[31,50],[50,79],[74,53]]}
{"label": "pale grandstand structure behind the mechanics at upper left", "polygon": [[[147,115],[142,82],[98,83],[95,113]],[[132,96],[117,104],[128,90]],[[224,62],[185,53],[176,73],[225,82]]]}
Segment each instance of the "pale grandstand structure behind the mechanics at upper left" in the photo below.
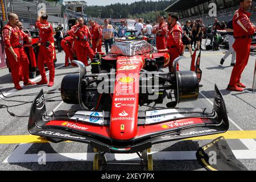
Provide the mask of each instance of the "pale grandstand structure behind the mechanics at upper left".
{"label": "pale grandstand structure behind the mechanics at upper left", "polygon": [[42,9],[40,3],[46,5],[48,22],[53,28],[61,24],[64,30],[67,30],[68,20],[78,17],[86,19],[86,2],[81,1],[66,1],[65,6],[63,0],[0,0],[0,23],[1,27],[7,23],[7,14],[15,13],[19,16],[23,27],[31,29],[35,26],[35,21],[38,17],[38,11]]}

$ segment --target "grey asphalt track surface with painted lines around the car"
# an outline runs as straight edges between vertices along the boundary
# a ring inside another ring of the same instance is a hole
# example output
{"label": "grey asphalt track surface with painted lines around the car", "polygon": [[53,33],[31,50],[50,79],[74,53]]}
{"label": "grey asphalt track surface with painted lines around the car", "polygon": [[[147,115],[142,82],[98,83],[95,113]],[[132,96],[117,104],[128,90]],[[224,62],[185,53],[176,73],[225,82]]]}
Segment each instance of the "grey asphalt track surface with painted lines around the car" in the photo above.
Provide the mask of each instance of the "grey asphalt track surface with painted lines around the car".
{"label": "grey asphalt track surface with painted lines around the car", "polygon": [[[204,47],[203,47],[204,48]],[[180,69],[190,68],[190,56],[185,52],[184,59],[180,61]],[[200,96],[197,101],[186,102],[177,107],[200,107],[210,111],[212,109],[214,97],[214,84],[217,84],[224,95],[225,104],[230,119],[230,128],[224,136],[236,157],[249,170],[256,170],[256,94],[237,93],[226,90],[232,72],[230,67],[231,56],[226,59],[223,66],[220,65],[222,51],[202,51],[201,70],[203,77],[200,88]],[[253,84],[253,72],[255,56],[250,56],[249,63],[243,72],[242,82],[251,88]],[[5,95],[15,96],[16,94],[38,93],[41,89],[49,91],[56,89],[52,94],[45,94],[46,98],[56,100],[47,102],[47,112],[52,110],[80,109],[78,105],[68,105],[61,101],[60,91],[61,80],[65,75],[79,72],[77,67],[64,66],[64,53],[57,53],[57,63],[55,71],[55,85],[52,88],[43,86],[25,86],[23,90],[13,89],[11,75],[7,68],[0,69],[0,90]],[[89,70],[89,68],[88,68]],[[47,75],[48,76],[48,75]],[[34,81],[39,81],[36,77]],[[22,82],[21,82],[22,83]],[[32,101],[33,96],[22,96],[8,98],[11,101],[0,100],[3,105],[18,105],[19,101]],[[165,104],[164,104],[165,105]],[[16,115],[29,115],[31,104],[10,107],[9,110]],[[142,108],[146,109],[146,108]],[[47,143],[36,136],[29,135],[27,130],[28,117],[12,117],[6,109],[0,109],[0,170],[92,170],[93,169],[93,149],[87,144],[77,142]],[[205,170],[195,157],[195,151],[203,144],[206,144],[218,136],[207,136],[204,138],[193,138],[188,140],[178,140],[163,144],[156,144],[151,148],[154,160],[154,170]],[[39,152],[46,153],[46,164],[39,164]],[[125,156],[108,155],[109,159],[130,159],[137,158],[130,154]],[[136,159],[135,159],[136,160]],[[138,166],[108,165],[103,168],[108,171],[118,170],[141,170]]]}

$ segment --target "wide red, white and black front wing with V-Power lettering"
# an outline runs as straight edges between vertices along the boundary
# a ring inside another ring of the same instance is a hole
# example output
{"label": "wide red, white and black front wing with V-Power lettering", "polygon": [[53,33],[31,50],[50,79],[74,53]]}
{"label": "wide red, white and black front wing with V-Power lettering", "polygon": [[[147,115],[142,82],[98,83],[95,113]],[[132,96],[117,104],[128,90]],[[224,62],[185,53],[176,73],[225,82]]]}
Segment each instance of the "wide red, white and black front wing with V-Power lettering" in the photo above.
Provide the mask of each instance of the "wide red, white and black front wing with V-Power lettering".
{"label": "wide red, white and black front wing with V-Power lettering", "polygon": [[57,111],[46,114],[43,90],[32,103],[28,131],[52,142],[72,140],[88,143],[109,153],[134,153],[153,144],[225,133],[229,128],[224,99],[215,85],[212,113],[205,109],[175,108],[139,111],[138,134],[130,140],[109,137],[110,113],[99,111]]}

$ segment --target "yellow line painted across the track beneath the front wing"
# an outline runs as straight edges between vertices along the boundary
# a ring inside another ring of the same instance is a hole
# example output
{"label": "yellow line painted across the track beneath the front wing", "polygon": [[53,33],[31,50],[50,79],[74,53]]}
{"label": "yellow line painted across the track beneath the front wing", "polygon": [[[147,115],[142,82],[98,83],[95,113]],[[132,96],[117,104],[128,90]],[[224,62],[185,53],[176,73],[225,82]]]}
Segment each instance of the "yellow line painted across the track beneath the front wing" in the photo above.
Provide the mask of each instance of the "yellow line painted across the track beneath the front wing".
{"label": "yellow line painted across the track beneath the front wing", "polygon": [[[213,140],[218,137],[224,137],[225,139],[256,139],[256,130],[253,131],[227,131],[226,133],[207,135],[204,137],[194,137],[183,140]],[[0,144],[11,143],[47,143],[46,139],[43,139],[35,135],[6,135],[0,136]],[[67,141],[70,142],[70,141]]]}

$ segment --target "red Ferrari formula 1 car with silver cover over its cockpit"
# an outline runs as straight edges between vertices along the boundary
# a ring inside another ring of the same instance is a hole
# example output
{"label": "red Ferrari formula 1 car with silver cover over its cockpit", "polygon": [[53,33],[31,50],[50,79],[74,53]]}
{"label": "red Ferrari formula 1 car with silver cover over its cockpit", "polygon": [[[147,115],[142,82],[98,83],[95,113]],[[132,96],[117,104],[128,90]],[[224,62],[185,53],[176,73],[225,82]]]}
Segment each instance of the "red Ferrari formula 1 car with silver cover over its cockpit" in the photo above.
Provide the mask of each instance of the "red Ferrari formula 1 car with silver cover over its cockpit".
{"label": "red Ferrari formula 1 car with silver cover over its cockpit", "polygon": [[[174,61],[174,68],[180,59]],[[63,78],[61,97],[82,109],[47,115],[41,91],[31,107],[28,131],[53,142],[90,144],[98,152],[94,170],[109,163],[106,153],[137,153],[139,164],[152,170],[148,149],[153,144],[227,131],[228,116],[217,86],[212,112],[175,107],[197,100],[199,83],[192,71],[163,72],[168,61],[168,53],[154,52],[144,40],[116,42],[111,55],[92,61],[92,73],[73,61],[80,74]],[[143,109],[152,103],[162,107]]]}

